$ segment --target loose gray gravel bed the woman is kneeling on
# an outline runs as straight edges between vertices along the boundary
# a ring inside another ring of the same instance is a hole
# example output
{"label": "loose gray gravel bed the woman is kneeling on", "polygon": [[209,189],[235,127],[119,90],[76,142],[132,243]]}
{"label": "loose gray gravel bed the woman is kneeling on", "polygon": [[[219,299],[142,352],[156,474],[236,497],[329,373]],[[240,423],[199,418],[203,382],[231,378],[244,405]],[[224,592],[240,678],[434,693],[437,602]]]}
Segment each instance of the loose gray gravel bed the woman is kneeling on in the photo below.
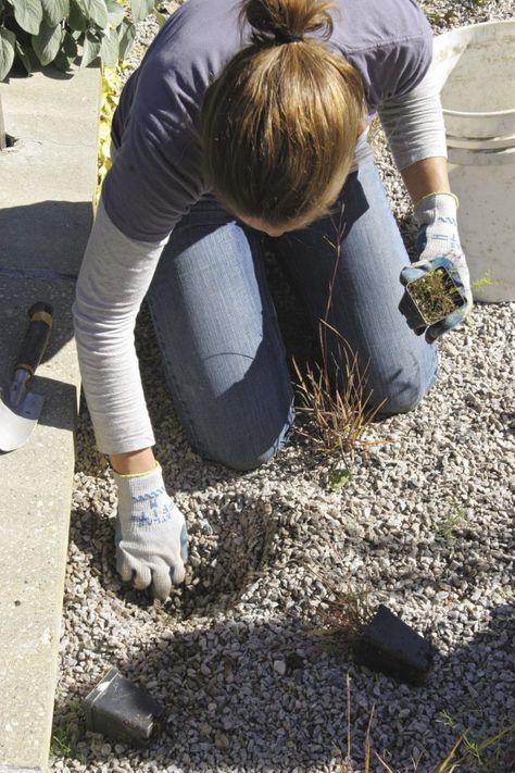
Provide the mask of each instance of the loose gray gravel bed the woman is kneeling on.
{"label": "loose gray gravel bed the woman is kneeling on", "polygon": [[[425,8],[455,13],[435,21],[437,30],[513,15],[512,0]],[[151,20],[140,25],[139,55],[154,33]],[[406,196],[382,151],[411,245]],[[306,323],[272,262],[268,270],[294,350]],[[143,308],[137,346],[156,456],[188,522],[187,581],[164,603],[121,583],[114,488],[83,407],[54,771],[341,772],[350,727],[349,770],[357,772],[374,709],[374,750],[393,771],[429,773],[462,733],[481,744],[514,722],[514,307],[476,304],[440,342],[437,387],[415,411],[370,427],[366,439],[378,445],[356,454],[341,491],[328,484],[335,460],[300,436],[246,474],[196,456]],[[360,668],[343,646],[322,646],[316,627],[335,583],[366,589],[373,607],[387,603],[431,637],[438,656],[426,686]],[[83,699],[111,665],[166,706],[164,730],[147,749],[86,732]],[[481,770],[514,770],[508,735],[478,751]],[[459,770],[476,765],[470,753]],[[372,770],[385,768],[374,758]]]}

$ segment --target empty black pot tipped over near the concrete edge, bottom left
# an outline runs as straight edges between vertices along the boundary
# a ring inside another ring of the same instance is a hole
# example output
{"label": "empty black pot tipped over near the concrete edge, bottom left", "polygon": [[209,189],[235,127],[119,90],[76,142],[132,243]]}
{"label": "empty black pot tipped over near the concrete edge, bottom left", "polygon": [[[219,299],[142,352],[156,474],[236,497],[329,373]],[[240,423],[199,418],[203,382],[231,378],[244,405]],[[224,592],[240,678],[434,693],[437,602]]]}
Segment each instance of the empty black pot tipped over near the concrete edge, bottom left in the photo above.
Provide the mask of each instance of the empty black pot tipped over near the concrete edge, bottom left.
{"label": "empty black pot tipped over near the concrete edge, bottom left", "polygon": [[85,700],[86,727],[106,738],[142,747],[156,735],[164,707],[110,669]]}

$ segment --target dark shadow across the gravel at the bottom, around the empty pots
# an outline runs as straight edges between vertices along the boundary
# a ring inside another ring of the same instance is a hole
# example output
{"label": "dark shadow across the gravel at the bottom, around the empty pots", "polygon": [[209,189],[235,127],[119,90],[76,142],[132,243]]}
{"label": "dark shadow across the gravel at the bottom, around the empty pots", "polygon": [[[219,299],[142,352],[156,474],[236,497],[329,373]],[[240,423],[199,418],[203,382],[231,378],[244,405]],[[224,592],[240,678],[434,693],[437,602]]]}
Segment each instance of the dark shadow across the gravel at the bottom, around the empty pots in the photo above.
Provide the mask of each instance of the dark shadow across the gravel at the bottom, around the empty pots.
{"label": "dark shadow across the gravel at the bottom, around the empty pots", "polygon": [[[418,772],[432,773],[466,734],[456,770],[508,773],[513,728],[492,739],[515,719],[510,690],[514,621],[513,607],[494,609],[485,631],[449,657],[437,658],[420,688],[359,669],[344,653],[319,649],[313,633],[294,619],[261,625],[227,620],[193,633],[169,631],[130,660],[113,663],[133,682],[148,686],[167,712],[164,732],[147,750],[117,747],[116,758],[130,770],[143,761],[159,771],[176,764],[174,771],[191,773],[218,768],[318,771],[330,764],[337,770],[338,750],[347,756],[349,675],[356,769],[364,764],[374,706],[372,747],[393,771],[414,770],[405,751],[410,749]],[[493,672],[487,673],[487,662]],[[70,748],[84,756],[87,770],[96,770],[110,758],[105,747],[102,751],[105,740],[85,735],[79,708],[85,695],[81,690],[67,703],[58,700],[54,734],[67,734]],[[384,768],[376,760],[372,770]]]}

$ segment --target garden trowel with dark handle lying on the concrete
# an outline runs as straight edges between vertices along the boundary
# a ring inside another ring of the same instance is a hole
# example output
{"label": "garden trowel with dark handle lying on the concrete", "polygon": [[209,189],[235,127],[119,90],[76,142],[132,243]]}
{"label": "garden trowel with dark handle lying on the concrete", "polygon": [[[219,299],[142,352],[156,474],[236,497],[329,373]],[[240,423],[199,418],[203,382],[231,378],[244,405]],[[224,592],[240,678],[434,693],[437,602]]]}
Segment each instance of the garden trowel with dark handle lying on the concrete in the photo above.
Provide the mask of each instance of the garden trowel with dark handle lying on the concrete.
{"label": "garden trowel with dark handle lying on the concrete", "polygon": [[14,365],[11,383],[1,390],[0,450],[14,451],[28,440],[45,401],[27,386],[41,362],[52,329],[53,309],[38,301],[28,310],[29,323]]}

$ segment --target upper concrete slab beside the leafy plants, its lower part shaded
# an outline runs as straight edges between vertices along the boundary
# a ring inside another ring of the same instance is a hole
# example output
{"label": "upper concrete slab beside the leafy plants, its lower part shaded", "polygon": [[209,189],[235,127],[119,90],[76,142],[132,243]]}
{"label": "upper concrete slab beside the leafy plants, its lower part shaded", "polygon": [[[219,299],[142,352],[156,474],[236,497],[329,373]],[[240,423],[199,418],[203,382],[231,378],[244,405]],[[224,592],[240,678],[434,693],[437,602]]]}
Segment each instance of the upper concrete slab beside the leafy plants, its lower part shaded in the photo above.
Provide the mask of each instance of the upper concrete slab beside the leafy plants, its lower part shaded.
{"label": "upper concrete slab beside the leafy plants, its lower part shaded", "polygon": [[5,130],[16,138],[0,157],[0,269],[77,273],[96,177],[98,86],[95,68],[0,84]]}

